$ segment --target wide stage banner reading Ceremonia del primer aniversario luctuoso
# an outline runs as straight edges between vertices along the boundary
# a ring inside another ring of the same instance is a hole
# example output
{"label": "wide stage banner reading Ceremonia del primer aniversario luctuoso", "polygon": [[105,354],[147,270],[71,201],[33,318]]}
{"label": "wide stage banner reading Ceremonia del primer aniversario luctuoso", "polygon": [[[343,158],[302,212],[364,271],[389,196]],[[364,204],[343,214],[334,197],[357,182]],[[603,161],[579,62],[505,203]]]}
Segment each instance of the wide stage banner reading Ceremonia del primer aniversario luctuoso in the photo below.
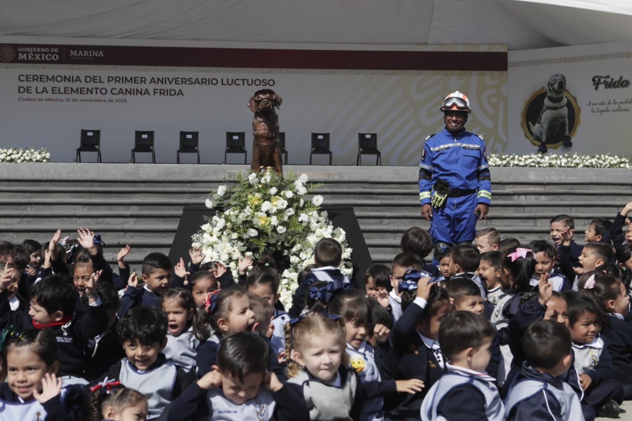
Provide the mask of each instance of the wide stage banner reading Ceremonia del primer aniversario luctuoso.
{"label": "wide stage banner reading Ceremonia del primer aniversario luctuoso", "polygon": [[[283,99],[290,164],[309,161],[311,132],[331,133],[334,164],[355,164],[362,132],[377,133],[384,165],[416,165],[423,139],[442,130],[439,107],[454,90],[470,97],[468,130],[485,137],[488,152],[502,152],[506,70],[506,46],[0,37],[0,147],[46,147],[52,161],[68,162],[80,130],[100,130],[103,161],[128,162],[134,131],[154,130],[156,161],[175,162],[179,131],[199,131],[201,162],[221,163],[226,131],[245,131],[250,164],[246,103],[271,88]],[[149,158],[137,154],[137,162]],[[229,155],[228,163],[240,158]]]}

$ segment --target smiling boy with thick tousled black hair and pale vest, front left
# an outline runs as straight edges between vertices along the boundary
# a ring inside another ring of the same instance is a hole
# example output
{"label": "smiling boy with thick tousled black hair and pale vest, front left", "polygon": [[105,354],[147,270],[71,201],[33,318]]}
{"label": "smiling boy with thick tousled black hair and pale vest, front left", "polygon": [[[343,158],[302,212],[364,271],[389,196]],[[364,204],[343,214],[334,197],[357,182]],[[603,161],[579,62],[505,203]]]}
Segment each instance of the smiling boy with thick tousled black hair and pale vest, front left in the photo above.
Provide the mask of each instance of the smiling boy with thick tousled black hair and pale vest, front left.
{"label": "smiling boy with thick tousled black hair and pale vest, front left", "polygon": [[194,380],[162,353],[167,345],[167,325],[167,315],[160,308],[131,308],[116,327],[126,358],[112,365],[98,381],[118,380],[147,396],[148,420],[159,417]]}

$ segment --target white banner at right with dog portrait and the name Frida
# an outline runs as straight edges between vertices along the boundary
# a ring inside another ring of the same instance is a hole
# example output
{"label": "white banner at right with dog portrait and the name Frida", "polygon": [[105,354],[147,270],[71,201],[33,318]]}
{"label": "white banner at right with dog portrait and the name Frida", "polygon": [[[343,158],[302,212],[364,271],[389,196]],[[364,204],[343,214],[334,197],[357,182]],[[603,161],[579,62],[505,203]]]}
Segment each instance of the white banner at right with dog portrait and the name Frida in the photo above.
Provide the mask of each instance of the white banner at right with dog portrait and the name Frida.
{"label": "white banner at right with dog portrait and the name Frida", "polygon": [[549,153],[630,154],[632,45],[509,52],[508,68],[507,152],[536,152],[541,133],[547,133]]}

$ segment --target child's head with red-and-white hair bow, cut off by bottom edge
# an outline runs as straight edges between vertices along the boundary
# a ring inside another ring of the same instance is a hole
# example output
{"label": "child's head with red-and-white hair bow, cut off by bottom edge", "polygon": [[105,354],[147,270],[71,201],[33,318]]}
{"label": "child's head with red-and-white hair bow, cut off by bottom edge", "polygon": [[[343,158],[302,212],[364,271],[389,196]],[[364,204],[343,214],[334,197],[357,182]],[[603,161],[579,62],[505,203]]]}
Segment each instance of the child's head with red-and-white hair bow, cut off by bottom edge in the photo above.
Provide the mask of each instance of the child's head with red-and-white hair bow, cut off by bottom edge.
{"label": "child's head with red-and-white hair bow, cut off by bottom edge", "polygon": [[119,381],[105,379],[90,387],[90,421],[139,421],[147,419],[147,398]]}

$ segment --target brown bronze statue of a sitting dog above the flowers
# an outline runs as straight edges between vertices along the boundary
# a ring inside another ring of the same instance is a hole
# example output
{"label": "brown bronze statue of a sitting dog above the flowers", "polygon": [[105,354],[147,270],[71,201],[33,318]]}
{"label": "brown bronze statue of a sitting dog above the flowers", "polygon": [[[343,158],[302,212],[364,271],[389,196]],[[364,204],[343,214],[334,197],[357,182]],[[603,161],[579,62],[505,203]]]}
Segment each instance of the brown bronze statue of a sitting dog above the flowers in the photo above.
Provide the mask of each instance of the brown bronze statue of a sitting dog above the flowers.
{"label": "brown bronze statue of a sitting dog above the flowers", "polygon": [[252,119],[252,162],[250,169],[259,171],[260,168],[274,168],[283,175],[281,165],[281,147],[279,147],[279,117],[275,108],[281,106],[281,97],[272,89],[260,89],[255,92],[248,108],[255,113]]}

